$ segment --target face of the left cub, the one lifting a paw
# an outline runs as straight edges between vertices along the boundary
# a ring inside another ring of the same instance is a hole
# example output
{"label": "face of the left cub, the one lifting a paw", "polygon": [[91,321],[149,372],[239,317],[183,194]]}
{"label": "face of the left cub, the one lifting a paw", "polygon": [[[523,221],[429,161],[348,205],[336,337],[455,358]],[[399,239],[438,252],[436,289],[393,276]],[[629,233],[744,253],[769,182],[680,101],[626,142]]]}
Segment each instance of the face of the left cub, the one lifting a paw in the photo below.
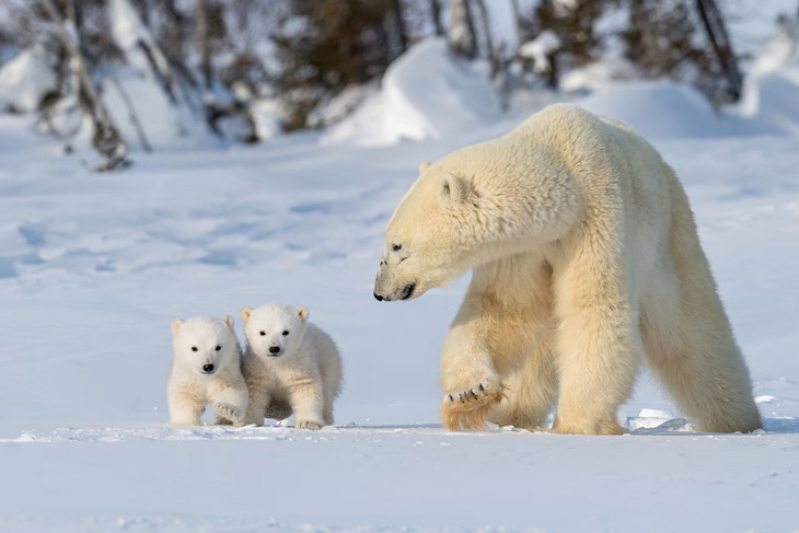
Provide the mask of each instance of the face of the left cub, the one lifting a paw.
{"label": "face of the left cub, the one lifting a paw", "polygon": [[177,364],[209,378],[239,357],[233,317],[197,316],[172,323],[172,343]]}

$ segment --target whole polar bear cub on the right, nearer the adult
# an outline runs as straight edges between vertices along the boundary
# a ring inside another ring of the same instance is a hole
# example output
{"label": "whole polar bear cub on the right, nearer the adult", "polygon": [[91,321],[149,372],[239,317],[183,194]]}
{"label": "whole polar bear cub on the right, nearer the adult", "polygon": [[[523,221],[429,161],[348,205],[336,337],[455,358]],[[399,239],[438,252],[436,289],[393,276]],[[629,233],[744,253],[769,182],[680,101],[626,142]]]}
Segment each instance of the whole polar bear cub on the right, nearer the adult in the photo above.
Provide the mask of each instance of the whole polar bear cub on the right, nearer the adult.
{"label": "whole polar bear cub on the right, nearer the adult", "polygon": [[247,347],[244,378],[250,389],[245,424],[264,416],[288,417],[296,427],[333,424],[333,401],[341,387],[341,358],[333,339],[308,322],[306,308],[279,303],[242,311]]}

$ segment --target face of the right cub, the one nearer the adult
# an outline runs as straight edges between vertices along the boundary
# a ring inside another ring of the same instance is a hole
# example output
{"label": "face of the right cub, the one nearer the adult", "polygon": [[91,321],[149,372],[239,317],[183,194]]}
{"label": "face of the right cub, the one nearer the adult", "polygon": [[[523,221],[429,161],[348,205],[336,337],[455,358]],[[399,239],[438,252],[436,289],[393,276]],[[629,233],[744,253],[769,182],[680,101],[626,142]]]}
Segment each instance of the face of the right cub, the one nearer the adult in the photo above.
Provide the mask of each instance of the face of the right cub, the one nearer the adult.
{"label": "face of the right cub, the one nearer the adult", "polygon": [[258,357],[275,358],[297,352],[308,327],[308,309],[267,304],[242,311],[244,333]]}

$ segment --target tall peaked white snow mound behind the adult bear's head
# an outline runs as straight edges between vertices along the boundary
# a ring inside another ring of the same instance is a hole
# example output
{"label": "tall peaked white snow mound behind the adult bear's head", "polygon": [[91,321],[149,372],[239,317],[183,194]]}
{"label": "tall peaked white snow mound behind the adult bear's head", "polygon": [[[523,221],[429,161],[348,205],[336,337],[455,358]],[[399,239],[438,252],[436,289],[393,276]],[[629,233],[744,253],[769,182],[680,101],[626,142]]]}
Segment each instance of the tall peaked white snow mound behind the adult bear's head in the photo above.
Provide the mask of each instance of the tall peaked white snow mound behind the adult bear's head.
{"label": "tall peaked white snow mound behind the adult bear's head", "polygon": [[500,113],[498,94],[485,73],[452,57],[443,39],[428,39],[397,59],[381,90],[321,141],[377,147],[439,139],[490,123]]}

